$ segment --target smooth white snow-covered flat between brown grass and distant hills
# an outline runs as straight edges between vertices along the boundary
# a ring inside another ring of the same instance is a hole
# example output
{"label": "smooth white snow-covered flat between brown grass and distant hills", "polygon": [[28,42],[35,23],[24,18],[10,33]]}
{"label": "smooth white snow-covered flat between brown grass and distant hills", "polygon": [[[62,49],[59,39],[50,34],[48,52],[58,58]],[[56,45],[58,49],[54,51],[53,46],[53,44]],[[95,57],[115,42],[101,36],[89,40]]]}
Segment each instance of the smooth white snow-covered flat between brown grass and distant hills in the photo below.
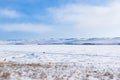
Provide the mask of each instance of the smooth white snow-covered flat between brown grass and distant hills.
{"label": "smooth white snow-covered flat between brown grass and distant hills", "polygon": [[119,63],[119,45],[1,45],[0,61]]}

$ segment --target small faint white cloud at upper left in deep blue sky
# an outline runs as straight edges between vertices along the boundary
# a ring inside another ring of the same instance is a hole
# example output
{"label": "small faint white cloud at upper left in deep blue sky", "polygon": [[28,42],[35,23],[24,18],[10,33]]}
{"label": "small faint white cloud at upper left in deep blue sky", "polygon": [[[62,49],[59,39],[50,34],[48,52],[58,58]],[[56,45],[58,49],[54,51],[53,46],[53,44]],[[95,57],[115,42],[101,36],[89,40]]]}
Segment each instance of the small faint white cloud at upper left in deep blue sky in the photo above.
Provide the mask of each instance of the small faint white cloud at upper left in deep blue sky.
{"label": "small faint white cloud at upper left in deep blue sky", "polygon": [[0,9],[0,16],[6,17],[6,18],[17,18],[17,17],[20,17],[22,15],[15,10]]}

